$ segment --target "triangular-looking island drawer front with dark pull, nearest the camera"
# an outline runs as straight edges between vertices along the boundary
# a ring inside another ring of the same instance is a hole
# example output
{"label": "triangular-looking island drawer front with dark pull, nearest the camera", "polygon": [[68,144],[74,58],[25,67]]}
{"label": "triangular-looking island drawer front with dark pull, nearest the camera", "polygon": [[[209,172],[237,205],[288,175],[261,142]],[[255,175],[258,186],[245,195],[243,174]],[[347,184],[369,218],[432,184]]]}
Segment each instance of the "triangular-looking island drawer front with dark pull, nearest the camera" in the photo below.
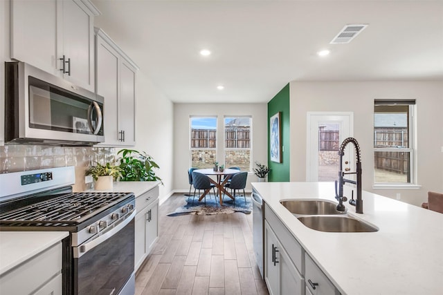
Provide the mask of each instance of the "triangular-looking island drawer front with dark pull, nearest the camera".
{"label": "triangular-looking island drawer front with dark pull, nearest the camera", "polygon": [[[335,295],[339,294],[338,290],[336,292],[336,288],[331,283],[329,278],[323,272],[321,269],[314,263],[314,260],[309,257],[309,255],[305,254],[305,267],[306,267],[306,274],[305,274],[305,281],[306,281],[306,288],[309,289],[309,292],[314,295]],[[310,280],[310,282],[309,282]],[[315,285],[314,287],[312,285]]]}

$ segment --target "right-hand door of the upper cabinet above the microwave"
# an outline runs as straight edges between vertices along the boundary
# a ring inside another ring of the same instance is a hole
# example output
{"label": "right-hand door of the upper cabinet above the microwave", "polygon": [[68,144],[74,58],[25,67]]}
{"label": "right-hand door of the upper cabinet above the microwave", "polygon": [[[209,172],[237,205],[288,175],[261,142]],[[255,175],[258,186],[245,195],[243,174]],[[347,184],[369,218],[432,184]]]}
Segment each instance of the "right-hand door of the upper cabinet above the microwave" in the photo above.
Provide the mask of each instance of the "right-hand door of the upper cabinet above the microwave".
{"label": "right-hand door of the upper cabinet above the microwave", "polygon": [[64,74],[64,78],[94,91],[93,15],[80,1],[61,2],[62,24],[59,26],[59,36],[62,48],[58,51],[58,58],[64,55],[66,59],[71,59],[71,74]]}

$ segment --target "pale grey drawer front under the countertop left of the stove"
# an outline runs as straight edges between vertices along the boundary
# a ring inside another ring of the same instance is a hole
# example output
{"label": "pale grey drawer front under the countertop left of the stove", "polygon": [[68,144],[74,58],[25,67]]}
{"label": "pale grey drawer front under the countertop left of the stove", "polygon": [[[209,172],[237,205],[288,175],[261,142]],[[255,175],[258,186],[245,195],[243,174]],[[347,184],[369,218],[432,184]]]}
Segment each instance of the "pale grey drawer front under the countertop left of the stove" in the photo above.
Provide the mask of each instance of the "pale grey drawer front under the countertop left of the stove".
{"label": "pale grey drawer front under the countertop left of the stove", "polygon": [[30,294],[62,273],[62,243],[0,276],[1,294]]}

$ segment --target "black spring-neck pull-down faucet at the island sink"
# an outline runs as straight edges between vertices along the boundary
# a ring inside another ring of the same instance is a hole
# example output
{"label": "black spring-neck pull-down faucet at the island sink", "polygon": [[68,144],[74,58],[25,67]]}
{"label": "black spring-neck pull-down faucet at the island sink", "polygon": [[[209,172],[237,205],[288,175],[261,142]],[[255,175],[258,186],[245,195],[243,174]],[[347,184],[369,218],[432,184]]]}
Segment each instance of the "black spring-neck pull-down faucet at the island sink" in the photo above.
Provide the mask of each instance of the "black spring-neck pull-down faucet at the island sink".
{"label": "black spring-neck pull-down faucet at the island sink", "polygon": [[[345,155],[345,147],[347,144],[352,142],[355,146],[356,150],[356,171],[355,172],[343,172],[343,155]],[[338,200],[337,210],[345,211],[345,206],[343,205],[343,201],[346,202],[347,198],[343,196],[343,185],[345,182],[355,184],[357,187],[357,198],[349,201],[350,204],[355,206],[356,213],[363,213],[363,200],[361,199],[361,158],[360,158],[360,145],[359,142],[356,141],[354,137],[347,137],[341,143],[340,149],[338,149],[338,155],[340,155],[339,160],[339,170],[338,170],[338,181],[335,182],[335,198]],[[345,179],[345,174],[356,174],[356,181]],[[337,189],[338,187],[338,189]],[[337,191],[338,190],[338,191]]]}

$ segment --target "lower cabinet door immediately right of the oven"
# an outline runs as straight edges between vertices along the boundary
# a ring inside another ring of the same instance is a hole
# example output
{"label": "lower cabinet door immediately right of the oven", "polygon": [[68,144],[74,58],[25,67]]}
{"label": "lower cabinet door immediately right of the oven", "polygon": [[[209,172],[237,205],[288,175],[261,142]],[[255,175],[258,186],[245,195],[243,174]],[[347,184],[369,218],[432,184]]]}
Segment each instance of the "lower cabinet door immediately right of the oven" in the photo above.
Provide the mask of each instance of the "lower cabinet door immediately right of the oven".
{"label": "lower cabinet door immediately right of the oven", "polygon": [[146,234],[147,234],[147,211],[148,208],[138,212],[135,220],[135,244],[134,244],[134,266],[135,270],[141,266],[147,256]]}

